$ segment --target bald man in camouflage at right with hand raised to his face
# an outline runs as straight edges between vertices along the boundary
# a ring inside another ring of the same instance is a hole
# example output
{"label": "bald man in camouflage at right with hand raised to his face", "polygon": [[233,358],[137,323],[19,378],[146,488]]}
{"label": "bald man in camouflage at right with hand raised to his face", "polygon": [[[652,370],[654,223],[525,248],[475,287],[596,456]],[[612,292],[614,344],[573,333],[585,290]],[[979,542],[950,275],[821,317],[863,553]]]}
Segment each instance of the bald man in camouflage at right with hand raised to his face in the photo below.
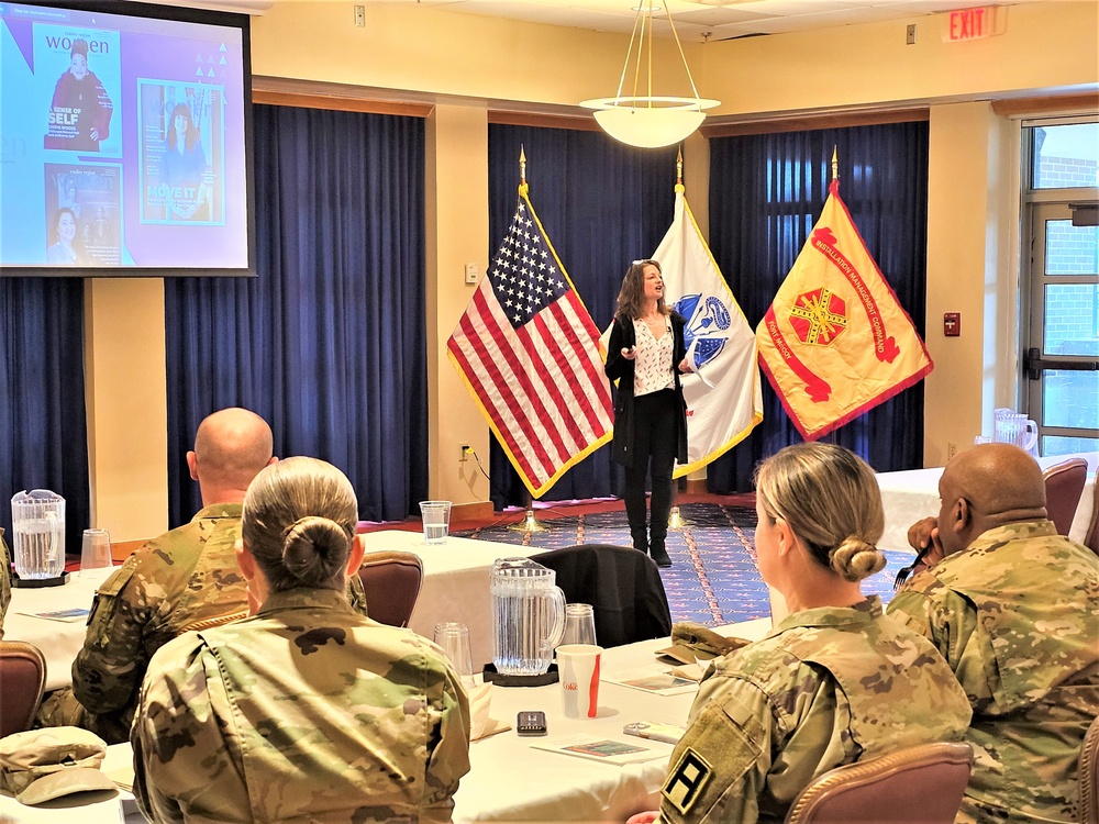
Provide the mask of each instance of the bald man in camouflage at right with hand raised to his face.
{"label": "bald man in camouflage at right with hand raised to his face", "polygon": [[1079,821],[1077,761],[1099,714],[1099,559],[1057,534],[1042,471],[1017,446],[961,453],[939,494],[939,517],[909,530],[930,566],[889,614],[939,647],[973,706],[958,821]]}

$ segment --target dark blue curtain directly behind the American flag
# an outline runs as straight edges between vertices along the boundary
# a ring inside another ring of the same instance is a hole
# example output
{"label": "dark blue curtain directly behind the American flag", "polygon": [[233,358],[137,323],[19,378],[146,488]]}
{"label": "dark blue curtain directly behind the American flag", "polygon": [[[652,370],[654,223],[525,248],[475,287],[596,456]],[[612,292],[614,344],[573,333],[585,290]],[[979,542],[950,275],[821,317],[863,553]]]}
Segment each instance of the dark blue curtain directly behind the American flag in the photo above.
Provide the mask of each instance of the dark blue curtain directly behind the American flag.
{"label": "dark blue curtain directly behind the American flag", "polygon": [[[530,198],[596,326],[614,315],[630,263],[648,257],[671,225],[676,152],[624,146],[602,132],[492,124],[488,131],[489,260],[515,213],[519,153],[526,152]],[[491,437],[492,502],[522,505],[526,487]],[[619,493],[610,446],[562,476],[553,501]]]}

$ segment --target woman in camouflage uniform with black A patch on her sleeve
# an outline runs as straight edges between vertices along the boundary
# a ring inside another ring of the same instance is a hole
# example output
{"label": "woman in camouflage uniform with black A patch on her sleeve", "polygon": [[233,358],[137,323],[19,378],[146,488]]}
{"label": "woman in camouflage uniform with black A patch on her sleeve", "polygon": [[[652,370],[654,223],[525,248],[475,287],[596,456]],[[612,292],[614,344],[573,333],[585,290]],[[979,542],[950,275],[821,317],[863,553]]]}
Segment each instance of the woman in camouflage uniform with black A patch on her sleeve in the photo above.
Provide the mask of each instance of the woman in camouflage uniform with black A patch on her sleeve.
{"label": "woman in camouflage uniform with black A patch on her sleeve", "polygon": [[756,514],[759,574],[790,614],[713,660],[671,755],[663,822],[780,822],[822,772],[961,741],[969,726],[935,647],[862,594],[885,566],[881,495],[862,459],[829,444],[782,449],[756,471]]}

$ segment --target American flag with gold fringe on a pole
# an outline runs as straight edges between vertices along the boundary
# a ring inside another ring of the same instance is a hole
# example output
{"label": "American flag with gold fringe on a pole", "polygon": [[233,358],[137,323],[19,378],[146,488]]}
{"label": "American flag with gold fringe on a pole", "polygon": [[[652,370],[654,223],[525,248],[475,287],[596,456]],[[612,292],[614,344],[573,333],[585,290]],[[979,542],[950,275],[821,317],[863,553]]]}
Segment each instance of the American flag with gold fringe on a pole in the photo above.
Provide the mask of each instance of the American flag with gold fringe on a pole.
{"label": "American flag with gold fringe on a pole", "polygon": [[446,348],[532,497],[610,439],[613,407],[599,332],[525,185]]}

